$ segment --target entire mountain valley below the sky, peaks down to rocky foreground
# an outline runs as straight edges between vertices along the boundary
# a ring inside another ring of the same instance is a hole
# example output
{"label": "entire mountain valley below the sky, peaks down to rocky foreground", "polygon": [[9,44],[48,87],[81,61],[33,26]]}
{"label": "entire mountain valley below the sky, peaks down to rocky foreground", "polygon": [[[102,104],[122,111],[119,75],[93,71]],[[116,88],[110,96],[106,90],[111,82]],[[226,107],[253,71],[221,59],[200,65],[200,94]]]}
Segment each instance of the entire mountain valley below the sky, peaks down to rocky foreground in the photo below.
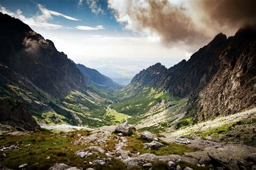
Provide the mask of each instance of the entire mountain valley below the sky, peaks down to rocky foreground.
{"label": "entire mountain valley below the sky, peaks down to rocky foreground", "polygon": [[255,169],[256,30],[121,86],[0,13],[1,169]]}

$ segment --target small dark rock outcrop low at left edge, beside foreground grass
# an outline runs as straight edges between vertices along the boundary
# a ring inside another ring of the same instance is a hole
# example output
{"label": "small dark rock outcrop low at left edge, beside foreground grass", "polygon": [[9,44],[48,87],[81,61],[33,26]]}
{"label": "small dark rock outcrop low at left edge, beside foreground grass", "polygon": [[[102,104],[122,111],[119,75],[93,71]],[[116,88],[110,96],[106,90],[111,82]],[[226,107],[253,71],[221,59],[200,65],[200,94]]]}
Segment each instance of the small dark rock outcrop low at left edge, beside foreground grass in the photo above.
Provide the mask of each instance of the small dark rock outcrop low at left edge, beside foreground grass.
{"label": "small dark rock outcrop low at left edge, beside foreground grass", "polygon": [[28,131],[40,129],[23,102],[7,98],[0,99],[0,123],[17,126]]}

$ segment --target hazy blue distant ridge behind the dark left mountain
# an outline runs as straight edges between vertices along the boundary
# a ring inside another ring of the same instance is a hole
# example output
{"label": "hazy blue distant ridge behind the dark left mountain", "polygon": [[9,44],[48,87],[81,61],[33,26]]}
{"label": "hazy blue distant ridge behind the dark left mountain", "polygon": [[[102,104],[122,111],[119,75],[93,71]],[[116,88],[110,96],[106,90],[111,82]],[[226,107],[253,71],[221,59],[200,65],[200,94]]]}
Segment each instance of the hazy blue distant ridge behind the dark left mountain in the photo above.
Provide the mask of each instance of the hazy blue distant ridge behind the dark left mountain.
{"label": "hazy blue distant ridge behind the dark left mountain", "polygon": [[99,89],[118,89],[121,88],[119,84],[111,80],[109,77],[100,74],[96,69],[85,67],[84,65],[77,64],[77,68],[84,75],[86,82],[91,83]]}

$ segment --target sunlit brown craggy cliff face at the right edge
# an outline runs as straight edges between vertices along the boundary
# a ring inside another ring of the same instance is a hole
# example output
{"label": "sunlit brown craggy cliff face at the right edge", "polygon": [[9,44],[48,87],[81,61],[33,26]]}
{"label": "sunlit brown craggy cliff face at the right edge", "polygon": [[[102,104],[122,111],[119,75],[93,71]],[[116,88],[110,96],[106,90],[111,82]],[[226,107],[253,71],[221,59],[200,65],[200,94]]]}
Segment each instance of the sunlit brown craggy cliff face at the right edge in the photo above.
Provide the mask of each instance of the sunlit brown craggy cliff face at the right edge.
{"label": "sunlit brown craggy cliff face at the right edge", "polygon": [[256,31],[239,30],[221,55],[217,73],[200,91],[199,121],[234,114],[255,104]]}

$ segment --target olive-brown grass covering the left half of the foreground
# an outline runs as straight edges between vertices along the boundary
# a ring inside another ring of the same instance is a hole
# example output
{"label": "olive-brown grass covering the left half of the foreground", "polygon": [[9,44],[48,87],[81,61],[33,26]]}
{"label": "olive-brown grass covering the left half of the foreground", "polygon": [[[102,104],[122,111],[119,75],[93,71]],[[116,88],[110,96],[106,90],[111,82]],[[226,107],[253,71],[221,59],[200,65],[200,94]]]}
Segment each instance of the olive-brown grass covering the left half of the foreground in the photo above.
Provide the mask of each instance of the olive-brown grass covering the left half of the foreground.
{"label": "olive-brown grass covering the left half of the foreground", "polygon": [[[58,162],[77,168],[89,168],[94,166],[83,164],[83,161],[93,161],[98,156],[100,158],[106,158],[105,154],[101,153],[84,159],[76,155],[76,151],[86,147],[85,145],[73,145],[71,143],[79,138],[77,134],[87,136],[90,132],[75,131],[53,134],[49,130],[45,130],[43,132],[32,133],[30,136],[10,136],[4,134],[0,139],[0,146],[8,147],[10,145],[16,145],[21,147],[21,149],[4,151],[6,157],[0,155],[1,165],[18,169],[19,165],[28,164],[26,169],[48,169]],[[26,146],[28,144],[30,146]],[[47,157],[50,157],[50,159],[46,159]],[[112,166],[111,169],[124,169],[123,162],[114,158],[109,165]],[[97,167],[99,169],[110,169],[106,165],[98,165]]]}

